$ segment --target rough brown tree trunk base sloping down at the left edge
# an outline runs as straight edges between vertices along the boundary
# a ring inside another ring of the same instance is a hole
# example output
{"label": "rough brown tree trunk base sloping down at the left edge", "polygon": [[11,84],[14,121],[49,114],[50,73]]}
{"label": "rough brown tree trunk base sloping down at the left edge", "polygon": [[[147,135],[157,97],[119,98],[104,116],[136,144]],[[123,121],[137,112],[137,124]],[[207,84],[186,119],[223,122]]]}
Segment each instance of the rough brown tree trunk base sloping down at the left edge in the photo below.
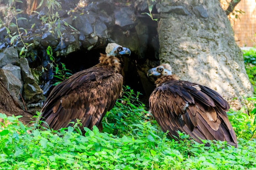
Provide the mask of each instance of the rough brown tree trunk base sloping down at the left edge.
{"label": "rough brown tree trunk base sloping down at the left edge", "polygon": [[[4,87],[4,84],[2,83],[0,79],[0,113],[4,113],[7,116],[18,116],[22,115],[19,120],[23,124],[28,124],[30,121],[35,120],[32,118],[32,115],[22,110],[20,107],[18,107],[18,104],[16,104],[7,91],[7,89]],[[0,121],[2,121],[0,119]]]}

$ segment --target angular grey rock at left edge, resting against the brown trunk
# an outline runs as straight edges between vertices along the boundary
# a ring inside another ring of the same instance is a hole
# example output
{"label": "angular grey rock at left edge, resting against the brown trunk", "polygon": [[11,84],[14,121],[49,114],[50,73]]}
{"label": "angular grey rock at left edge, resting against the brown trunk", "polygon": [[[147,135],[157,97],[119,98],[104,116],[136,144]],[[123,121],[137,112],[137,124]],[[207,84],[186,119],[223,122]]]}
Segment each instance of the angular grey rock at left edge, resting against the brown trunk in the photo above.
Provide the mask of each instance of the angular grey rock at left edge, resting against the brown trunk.
{"label": "angular grey rock at left edge, resting against the brown trunk", "polygon": [[20,94],[22,94],[22,81],[18,79],[11,71],[0,68],[0,79],[3,82],[11,97],[19,102]]}

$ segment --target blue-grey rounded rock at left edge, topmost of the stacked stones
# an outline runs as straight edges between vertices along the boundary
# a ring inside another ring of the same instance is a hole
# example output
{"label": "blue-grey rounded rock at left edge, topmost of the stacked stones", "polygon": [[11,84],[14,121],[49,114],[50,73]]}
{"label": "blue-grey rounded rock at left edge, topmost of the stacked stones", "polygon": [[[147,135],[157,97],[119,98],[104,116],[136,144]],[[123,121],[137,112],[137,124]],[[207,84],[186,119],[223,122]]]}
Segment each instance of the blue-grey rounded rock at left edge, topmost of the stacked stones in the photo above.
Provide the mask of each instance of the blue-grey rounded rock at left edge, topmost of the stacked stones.
{"label": "blue-grey rounded rock at left edge, topmost of the stacked stones", "polygon": [[6,64],[16,62],[18,58],[18,51],[12,46],[7,49],[0,50],[0,68]]}

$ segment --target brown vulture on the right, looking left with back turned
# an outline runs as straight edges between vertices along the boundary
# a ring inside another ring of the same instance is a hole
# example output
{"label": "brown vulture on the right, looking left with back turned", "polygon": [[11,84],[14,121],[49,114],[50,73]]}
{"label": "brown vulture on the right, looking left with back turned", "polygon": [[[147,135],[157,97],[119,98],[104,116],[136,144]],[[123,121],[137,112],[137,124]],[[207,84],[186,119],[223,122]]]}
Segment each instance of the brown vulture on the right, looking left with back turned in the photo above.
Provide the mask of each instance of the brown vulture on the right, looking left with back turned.
{"label": "brown vulture on the right, looking left with back turned", "polygon": [[179,80],[172,75],[169,64],[152,68],[147,75],[157,77],[156,88],[149,98],[150,110],[171,138],[178,140],[179,130],[199,143],[200,139],[220,140],[237,147],[236,134],[226,113],[229,104],[219,93]]}

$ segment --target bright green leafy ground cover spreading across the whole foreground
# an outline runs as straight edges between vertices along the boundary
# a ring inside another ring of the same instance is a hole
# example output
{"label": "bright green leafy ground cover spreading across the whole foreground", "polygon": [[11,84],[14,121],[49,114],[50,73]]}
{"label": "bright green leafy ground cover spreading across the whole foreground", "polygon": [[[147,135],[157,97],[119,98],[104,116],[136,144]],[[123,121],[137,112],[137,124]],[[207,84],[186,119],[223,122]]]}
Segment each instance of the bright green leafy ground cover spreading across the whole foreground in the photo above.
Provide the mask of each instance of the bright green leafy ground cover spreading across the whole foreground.
{"label": "bright green leafy ground cover spreading across the whole foreground", "polygon": [[[18,121],[20,116],[0,114],[4,120],[0,126],[0,169],[255,170],[255,139],[238,134],[238,148],[220,141],[209,141],[211,146],[207,147],[183,133],[180,142],[168,139],[139,102],[139,93],[129,87],[124,91],[106,116],[104,132],[85,128],[85,136],[76,132],[77,124],[59,131],[41,130],[36,122],[27,126]],[[240,123],[242,128],[243,121]]]}

